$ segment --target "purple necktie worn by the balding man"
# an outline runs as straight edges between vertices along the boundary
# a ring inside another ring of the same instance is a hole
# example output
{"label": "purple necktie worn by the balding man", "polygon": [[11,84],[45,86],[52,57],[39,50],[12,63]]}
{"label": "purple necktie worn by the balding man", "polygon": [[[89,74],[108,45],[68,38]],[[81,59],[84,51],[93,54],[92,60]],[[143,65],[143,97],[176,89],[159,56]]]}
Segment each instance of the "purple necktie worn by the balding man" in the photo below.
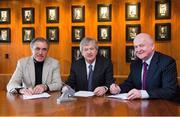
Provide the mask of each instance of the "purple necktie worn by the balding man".
{"label": "purple necktie worn by the balding man", "polygon": [[142,89],[146,90],[146,78],[147,78],[147,66],[146,62],[143,63],[143,79],[142,79]]}

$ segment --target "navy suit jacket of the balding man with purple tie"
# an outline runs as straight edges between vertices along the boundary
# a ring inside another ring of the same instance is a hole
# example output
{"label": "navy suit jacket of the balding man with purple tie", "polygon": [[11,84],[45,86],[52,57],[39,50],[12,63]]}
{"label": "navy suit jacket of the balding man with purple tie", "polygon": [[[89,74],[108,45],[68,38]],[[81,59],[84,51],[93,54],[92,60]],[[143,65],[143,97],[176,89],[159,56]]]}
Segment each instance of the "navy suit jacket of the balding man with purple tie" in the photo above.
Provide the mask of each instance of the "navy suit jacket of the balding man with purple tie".
{"label": "navy suit jacket of the balding man with purple tie", "polygon": [[[133,88],[141,89],[142,60],[131,64],[128,79],[120,85],[121,92]],[[147,93],[150,98],[172,99],[177,90],[177,69],[173,58],[155,52],[146,78]]]}

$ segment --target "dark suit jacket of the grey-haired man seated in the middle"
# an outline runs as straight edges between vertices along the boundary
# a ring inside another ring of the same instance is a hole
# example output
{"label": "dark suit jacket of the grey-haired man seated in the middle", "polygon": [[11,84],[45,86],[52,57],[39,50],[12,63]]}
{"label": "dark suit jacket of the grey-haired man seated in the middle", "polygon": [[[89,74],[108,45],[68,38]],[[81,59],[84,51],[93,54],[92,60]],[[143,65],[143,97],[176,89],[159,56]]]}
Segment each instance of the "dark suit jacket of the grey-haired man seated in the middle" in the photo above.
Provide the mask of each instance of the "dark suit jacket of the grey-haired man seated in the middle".
{"label": "dark suit jacket of the grey-haired man seated in the middle", "polygon": [[[92,88],[107,86],[114,83],[113,66],[110,60],[97,56],[93,72]],[[85,59],[81,58],[71,65],[70,76],[66,82],[76,91],[88,90],[87,70]]]}

